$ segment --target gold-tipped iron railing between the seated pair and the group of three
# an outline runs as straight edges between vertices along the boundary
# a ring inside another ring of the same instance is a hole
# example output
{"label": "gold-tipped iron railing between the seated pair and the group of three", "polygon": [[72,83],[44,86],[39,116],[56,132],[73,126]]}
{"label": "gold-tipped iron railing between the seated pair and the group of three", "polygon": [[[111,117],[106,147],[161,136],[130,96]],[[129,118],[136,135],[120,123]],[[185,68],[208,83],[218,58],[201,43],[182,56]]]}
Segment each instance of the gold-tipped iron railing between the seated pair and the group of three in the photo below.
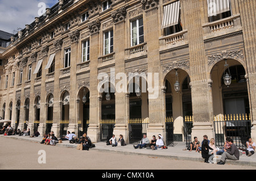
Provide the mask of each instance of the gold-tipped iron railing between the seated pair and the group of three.
{"label": "gold-tipped iron railing between the seated pair and the group of three", "polygon": [[143,134],[147,134],[149,119],[130,119],[129,120],[129,142],[130,144],[140,144]]}

